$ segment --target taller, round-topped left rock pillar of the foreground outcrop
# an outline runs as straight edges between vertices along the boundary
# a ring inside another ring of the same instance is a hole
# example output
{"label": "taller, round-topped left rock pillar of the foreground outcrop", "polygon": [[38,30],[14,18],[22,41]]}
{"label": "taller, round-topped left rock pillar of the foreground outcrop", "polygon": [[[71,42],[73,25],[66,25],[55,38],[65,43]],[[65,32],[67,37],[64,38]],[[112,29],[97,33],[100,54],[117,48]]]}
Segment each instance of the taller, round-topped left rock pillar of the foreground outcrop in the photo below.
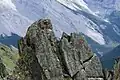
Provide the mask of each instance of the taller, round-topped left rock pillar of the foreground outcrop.
{"label": "taller, round-topped left rock pillar of the foreground outcrop", "polygon": [[33,80],[63,80],[62,68],[56,55],[56,40],[50,20],[35,22],[20,41],[19,52],[28,62]]}

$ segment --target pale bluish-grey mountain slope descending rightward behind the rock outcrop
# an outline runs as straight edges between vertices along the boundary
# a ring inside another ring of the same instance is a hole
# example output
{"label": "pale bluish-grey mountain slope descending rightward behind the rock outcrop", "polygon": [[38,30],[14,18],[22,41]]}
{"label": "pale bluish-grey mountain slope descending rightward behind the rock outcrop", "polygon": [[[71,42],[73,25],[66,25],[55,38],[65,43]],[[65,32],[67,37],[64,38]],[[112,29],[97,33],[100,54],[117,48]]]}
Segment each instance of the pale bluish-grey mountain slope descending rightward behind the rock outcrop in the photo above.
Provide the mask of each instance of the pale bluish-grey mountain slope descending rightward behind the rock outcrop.
{"label": "pale bluish-grey mountain slope descending rightward behind the rock outcrop", "polygon": [[[3,3],[3,1],[1,1],[1,3]],[[10,35],[10,33],[13,32],[20,36],[23,36],[26,32],[27,26],[30,23],[39,18],[48,17],[51,18],[54,23],[54,31],[56,32],[57,36],[60,36],[63,31],[66,33],[80,31],[90,36],[94,40],[97,39],[96,41],[100,44],[105,43],[100,33],[89,29],[89,27],[86,27],[87,22],[90,21],[89,19],[83,15],[76,15],[55,0],[9,0],[9,2],[11,3],[9,5],[12,5],[12,8],[9,9],[4,5],[5,7],[3,7],[3,9],[0,9],[3,10],[1,11],[2,13],[0,16],[0,26],[3,26],[0,31],[1,34],[5,33],[7,35]],[[7,3],[4,2],[4,4]],[[53,15],[55,16],[53,17]],[[66,27],[59,27],[63,26],[63,24]],[[93,25],[95,24],[93,23]],[[91,35],[89,35],[89,33]]]}

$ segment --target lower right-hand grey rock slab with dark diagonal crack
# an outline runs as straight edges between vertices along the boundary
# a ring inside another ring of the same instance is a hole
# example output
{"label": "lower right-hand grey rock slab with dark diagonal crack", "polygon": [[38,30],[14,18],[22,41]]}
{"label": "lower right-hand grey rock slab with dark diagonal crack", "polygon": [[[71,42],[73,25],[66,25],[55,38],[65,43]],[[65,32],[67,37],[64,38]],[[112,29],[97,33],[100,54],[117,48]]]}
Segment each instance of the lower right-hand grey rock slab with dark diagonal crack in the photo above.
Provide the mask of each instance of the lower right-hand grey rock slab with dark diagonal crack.
{"label": "lower right-hand grey rock slab with dark diagonal crack", "polygon": [[102,66],[99,59],[92,53],[82,36],[63,33],[58,45],[59,57],[67,74],[73,80],[87,80],[87,77],[102,78]]}

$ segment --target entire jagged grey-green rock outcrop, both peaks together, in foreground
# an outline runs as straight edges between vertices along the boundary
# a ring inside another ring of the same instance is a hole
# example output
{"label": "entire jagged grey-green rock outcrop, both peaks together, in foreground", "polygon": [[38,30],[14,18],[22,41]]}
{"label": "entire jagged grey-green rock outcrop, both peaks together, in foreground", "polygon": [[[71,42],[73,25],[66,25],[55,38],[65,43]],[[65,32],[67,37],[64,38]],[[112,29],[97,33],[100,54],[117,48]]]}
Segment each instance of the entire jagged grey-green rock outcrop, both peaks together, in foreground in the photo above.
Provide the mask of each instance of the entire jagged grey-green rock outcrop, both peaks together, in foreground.
{"label": "entire jagged grey-green rock outcrop, both peaks together, in foreground", "polygon": [[102,66],[84,38],[63,33],[57,40],[49,19],[32,24],[19,41],[20,64],[29,78],[22,80],[88,80],[103,78]]}

